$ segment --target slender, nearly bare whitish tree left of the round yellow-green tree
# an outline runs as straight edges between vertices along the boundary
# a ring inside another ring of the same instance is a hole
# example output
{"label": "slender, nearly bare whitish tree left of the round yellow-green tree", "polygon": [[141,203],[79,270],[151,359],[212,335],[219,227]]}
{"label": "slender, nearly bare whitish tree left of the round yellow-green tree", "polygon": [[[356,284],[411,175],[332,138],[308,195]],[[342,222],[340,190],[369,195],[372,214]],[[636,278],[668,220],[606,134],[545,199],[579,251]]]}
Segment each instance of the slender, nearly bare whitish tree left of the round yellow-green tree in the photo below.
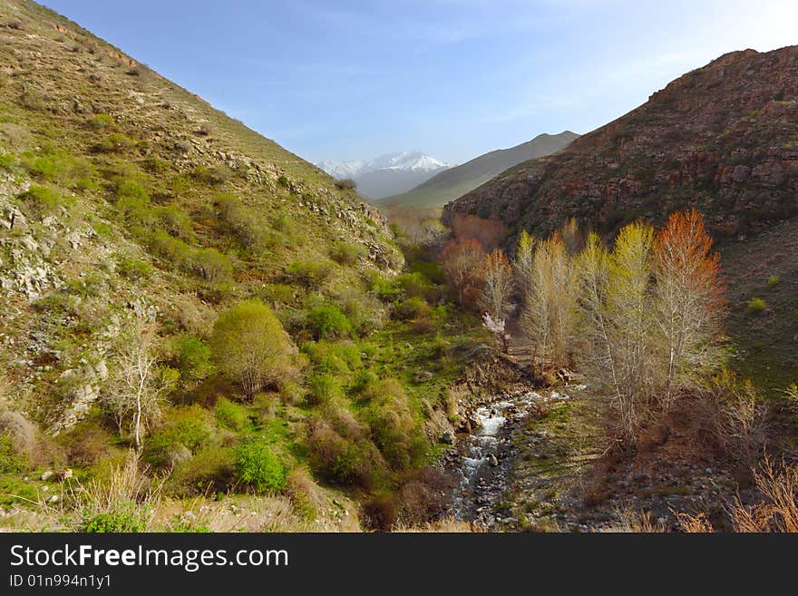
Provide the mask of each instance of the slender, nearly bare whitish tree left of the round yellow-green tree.
{"label": "slender, nearly bare whitish tree left of the round yellow-green tree", "polygon": [[119,426],[131,429],[136,449],[161,416],[161,402],[179,373],[158,365],[154,313],[138,308],[120,336],[103,402]]}

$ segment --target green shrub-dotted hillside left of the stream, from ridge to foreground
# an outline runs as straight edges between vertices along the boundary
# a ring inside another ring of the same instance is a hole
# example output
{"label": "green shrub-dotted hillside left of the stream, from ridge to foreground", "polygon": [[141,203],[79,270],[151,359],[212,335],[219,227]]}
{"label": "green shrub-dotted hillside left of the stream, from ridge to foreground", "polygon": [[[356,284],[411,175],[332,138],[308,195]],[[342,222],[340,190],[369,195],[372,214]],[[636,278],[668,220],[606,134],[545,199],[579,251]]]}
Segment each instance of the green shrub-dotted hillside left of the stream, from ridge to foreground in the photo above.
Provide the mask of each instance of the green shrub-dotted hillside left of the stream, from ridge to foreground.
{"label": "green shrub-dotted hillside left of the stream, from ridge to foreground", "polygon": [[[394,499],[453,415],[462,363],[448,347],[468,327],[433,308],[433,280],[396,276],[404,257],[379,213],[32,2],[0,0],[0,64],[5,525],[176,529],[199,496],[220,519],[251,509],[244,529],[329,530],[359,527],[341,491]],[[288,343],[284,371],[247,398],[217,321],[253,299]],[[126,466],[134,437],[109,396],[144,340],[164,391]],[[160,504],[92,509],[114,474],[161,477]],[[69,476],[94,501],[48,501]],[[282,525],[262,525],[275,511]]]}

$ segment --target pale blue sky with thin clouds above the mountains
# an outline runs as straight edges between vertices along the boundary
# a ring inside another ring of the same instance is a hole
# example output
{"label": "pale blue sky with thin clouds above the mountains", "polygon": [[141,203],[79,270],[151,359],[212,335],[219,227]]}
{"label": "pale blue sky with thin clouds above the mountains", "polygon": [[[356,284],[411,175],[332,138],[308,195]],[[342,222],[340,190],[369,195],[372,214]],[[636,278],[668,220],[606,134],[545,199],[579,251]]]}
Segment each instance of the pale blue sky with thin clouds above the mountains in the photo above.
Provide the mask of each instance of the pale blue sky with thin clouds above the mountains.
{"label": "pale blue sky with thin clouds above the mountains", "polygon": [[462,163],[798,44],[796,0],[43,1],[314,162]]}

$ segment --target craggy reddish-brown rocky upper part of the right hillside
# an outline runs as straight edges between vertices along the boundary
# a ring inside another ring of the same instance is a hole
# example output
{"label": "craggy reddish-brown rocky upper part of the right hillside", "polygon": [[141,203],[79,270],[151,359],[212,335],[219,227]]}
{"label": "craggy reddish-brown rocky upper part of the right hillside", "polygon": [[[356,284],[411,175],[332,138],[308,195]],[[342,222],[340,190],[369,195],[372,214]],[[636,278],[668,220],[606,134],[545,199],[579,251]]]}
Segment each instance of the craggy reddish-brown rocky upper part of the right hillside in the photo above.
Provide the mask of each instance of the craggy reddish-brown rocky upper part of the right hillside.
{"label": "craggy reddish-brown rocky upper part of the right hillside", "polygon": [[722,235],[798,213],[798,46],[721,56],[565,151],[446,206],[540,234],[576,217],[611,233],[695,206]]}

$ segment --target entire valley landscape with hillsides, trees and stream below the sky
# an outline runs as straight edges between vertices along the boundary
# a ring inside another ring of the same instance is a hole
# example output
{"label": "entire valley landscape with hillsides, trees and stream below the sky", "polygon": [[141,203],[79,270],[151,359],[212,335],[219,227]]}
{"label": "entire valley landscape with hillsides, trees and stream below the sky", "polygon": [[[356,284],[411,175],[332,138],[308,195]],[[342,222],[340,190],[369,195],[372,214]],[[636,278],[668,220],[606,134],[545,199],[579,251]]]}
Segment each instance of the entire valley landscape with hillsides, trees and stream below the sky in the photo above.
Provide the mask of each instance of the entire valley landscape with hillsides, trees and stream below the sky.
{"label": "entire valley landscape with hillsides, trees and stream below the sky", "polygon": [[0,530],[795,531],[796,239],[798,46],[313,165],[0,0]]}

